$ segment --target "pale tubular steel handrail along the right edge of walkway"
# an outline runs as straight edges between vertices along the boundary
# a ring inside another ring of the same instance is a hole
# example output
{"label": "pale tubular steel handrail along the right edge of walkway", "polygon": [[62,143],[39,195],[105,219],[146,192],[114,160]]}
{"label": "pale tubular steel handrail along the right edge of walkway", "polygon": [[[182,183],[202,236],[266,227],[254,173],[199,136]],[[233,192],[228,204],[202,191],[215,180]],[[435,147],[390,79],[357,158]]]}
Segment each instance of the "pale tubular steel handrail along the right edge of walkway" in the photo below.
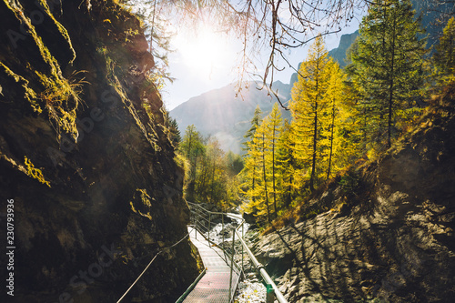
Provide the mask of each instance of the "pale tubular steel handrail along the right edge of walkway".
{"label": "pale tubular steel handrail along the right edge of walkway", "polygon": [[[238,229],[240,227],[243,227],[244,223],[246,222],[245,219],[243,217],[238,217],[236,215],[233,215],[233,214],[227,214],[227,213],[222,213],[222,212],[213,212],[213,211],[210,211],[210,210],[207,210],[206,208],[196,204],[196,203],[192,203],[192,202],[187,202],[188,205],[192,205],[194,207],[198,207],[199,209],[201,209],[203,212],[209,214],[209,215],[221,215],[221,216],[226,216],[226,217],[231,217],[231,218],[237,218],[237,219],[241,219],[241,224],[238,224],[238,227],[236,227],[234,229],[235,233],[237,234],[237,237],[238,237],[238,240],[240,241],[241,245],[242,245],[242,248],[245,248],[245,250],[247,251],[247,255],[248,257],[251,259],[251,261],[253,262],[254,266],[258,269],[261,277],[264,279],[264,281],[266,282],[267,285],[271,286],[271,288],[273,289],[274,293],[275,293],[275,296],[278,300],[279,303],[288,303],[288,300],[286,298],[284,298],[283,294],[281,293],[281,291],[279,291],[278,289],[278,286],[275,284],[275,282],[273,281],[272,278],[270,278],[270,276],[268,275],[266,269],[264,268],[264,266],[258,262],[258,259],[253,255],[253,253],[251,252],[251,250],[249,249],[247,243],[244,241],[243,237],[243,232],[242,234],[240,234],[238,232]],[[200,215],[199,215],[200,216]],[[206,220],[206,221],[209,221],[209,220]],[[195,227],[197,228],[197,224],[195,224]],[[207,234],[210,232],[210,227],[207,228]],[[234,239],[234,235],[233,235],[233,239]],[[210,241],[208,239],[208,241]],[[213,241],[211,241],[213,243]],[[234,246],[233,246],[234,247]],[[226,249],[222,248],[223,251],[226,252]],[[243,252],[243,251],[242,251]],[[235,251],[232,251],[232,256],[235,254]],[[242,262],[243,262],[243,257],[242,257]],[[233,263],[233,264],[232,264]],[[242,263],[243,264],[243,263]],[[239,270],[241,270],[241,272],[243,272],[243,268],[239,268],[238,267],[238,264],[236,264],[235,262],[231,262],[231,267],[235,265]]]}

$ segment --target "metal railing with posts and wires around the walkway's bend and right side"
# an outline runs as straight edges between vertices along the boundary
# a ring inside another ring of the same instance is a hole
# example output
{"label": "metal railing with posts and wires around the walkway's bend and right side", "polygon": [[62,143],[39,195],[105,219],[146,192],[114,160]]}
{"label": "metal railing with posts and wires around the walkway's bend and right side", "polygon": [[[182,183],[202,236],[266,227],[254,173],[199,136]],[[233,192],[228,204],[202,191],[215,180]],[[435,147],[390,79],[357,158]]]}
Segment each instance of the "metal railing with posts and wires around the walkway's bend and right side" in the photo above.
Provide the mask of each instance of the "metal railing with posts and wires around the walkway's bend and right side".
{"label": "metal railing with posts and wires around the walkway's bend and right side", "polygon": [[[225,259],[227,265],[230,267],[230,283],[229,283],[229,302],[231,302],[235,296],[235,290],[231,288],[237,288],[236,285],[232,285],[232,274],[233,271],[236,271],[240,277],[244,277],[244,259],[245,253],[248,258],[251,260],[254,267],[258,270],[260,276],[262,277],[266,288],[267,288],[267,303],[273,303],[275,300],[278,300],[279,303],[288,303],[283,294],[278,290],[277,285],[273,282],[272,278],[268,276],[268,273],[264,266],[258,262],[258,259],[255,258],[251,250],[249,249],[247,243],[243,239],[245,236],[245,220],[240,215],[227,214],[216,211],[209,211],[206,208],[202,207],[199,204],[187,202],[188,207],[191,211],[191,223],[192,226],[199,231],[204,237],[207,238],[207,241],[211,245],[217,245],[222,251],[224,256],[221,256]],[[227,231],[226,221],[237,220],[238,227],[232,229],[232,239],[226,238]],[[213,235],[210,235],[212,227],[215,227],[217,224],[221,223],[221,242],[216,243],[214,241]],[[212,239],[210,237],[212,236]],[[236,247],[236,240],[240,243]],[[232,241],[231,245],[227,244],[227,241]],[[231,291],[234,290],[234,291]]]}

